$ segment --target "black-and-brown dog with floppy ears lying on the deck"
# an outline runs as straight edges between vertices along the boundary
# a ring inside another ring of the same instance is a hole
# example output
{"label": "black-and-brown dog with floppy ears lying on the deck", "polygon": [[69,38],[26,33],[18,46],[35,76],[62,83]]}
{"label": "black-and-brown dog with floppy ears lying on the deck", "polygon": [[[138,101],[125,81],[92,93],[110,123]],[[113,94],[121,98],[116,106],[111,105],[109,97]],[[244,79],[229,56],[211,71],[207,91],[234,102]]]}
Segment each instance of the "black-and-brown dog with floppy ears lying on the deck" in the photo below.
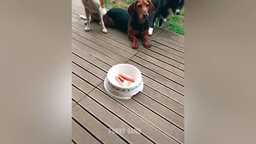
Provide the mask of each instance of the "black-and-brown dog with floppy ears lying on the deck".
{"label": "black-and-brown dog with floppy ears lying on the deck", "polygon": [[103,17],[107,27],[115,27],[128,34],[132,41],[132,48],[138,48],[136,35],[143,37],[143,45],[150,46],[148,41],[149,18],[154,10],[150,0],[137,0],[131,3],[128,10],[110,9]]}

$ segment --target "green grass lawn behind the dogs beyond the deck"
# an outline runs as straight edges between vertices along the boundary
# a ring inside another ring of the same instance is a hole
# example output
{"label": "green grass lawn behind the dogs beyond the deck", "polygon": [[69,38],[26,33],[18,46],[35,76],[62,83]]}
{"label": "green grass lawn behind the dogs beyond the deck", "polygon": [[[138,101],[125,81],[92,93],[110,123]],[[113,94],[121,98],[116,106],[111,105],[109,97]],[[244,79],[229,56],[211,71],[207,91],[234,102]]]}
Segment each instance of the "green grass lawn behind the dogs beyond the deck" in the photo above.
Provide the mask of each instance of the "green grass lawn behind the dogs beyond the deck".
{"label": "green grass lawn behind the dogs beyond the deck", "polygon": [[[131,4],[135,0],[121,0],[126,3],[126,5],[117,5],[115,3],[110,3],[110,0],[104,0],[105,7],[106,9],[112,9],[112,8],[122,8],[122,9],[127,9],[129,4]],[[113,1],[114,2],[114,1]],[[166,22],[163,22],[162,28],[171,30],[175,33],[185,35],[185,9],[183,8],[181,10],[180,15],[172,15],[169,17]]]}

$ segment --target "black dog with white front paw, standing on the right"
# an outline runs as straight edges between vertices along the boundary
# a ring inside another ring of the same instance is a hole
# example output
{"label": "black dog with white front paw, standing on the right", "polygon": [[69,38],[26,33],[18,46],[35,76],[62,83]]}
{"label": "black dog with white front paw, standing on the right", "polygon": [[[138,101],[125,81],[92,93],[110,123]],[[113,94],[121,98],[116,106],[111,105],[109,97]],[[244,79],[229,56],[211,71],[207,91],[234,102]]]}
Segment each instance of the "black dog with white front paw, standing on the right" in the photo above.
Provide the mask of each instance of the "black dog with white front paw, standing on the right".
{"label": "black dog with white front paw, standing on the right", "polygon": [[173,13],[179,15],[180,10],[184,6],[184,0],[151,0],[151,2],[154,4],[155,9],[153,11],[152,17],[149,20],[149,35],[153,34],[156,18],[159,19],[158,26],[161,27],[164,19]]}

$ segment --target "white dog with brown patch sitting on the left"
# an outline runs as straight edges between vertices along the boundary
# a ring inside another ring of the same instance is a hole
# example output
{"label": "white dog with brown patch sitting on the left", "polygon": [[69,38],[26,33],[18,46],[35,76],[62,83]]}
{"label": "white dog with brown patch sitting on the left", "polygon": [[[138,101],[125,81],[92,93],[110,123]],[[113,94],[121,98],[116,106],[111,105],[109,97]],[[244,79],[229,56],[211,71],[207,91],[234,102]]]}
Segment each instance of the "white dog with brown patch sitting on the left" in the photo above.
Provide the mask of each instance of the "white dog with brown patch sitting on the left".
{"label": "white dog with brown patch sitting on the left", "polygon": [[102,26],[102,32],[108,33],[108,30],[106,29],[103,22],[103,15],[106,14],[103,0],[82,0],[82,3],[84,5],[84,11],[86,15],[86,17],[80,15],[81,18],[86,19],[86,26],[84,30],[89,31],[91,27],[91,22],[93,22],[94,20],[99,20],[100,25]]}

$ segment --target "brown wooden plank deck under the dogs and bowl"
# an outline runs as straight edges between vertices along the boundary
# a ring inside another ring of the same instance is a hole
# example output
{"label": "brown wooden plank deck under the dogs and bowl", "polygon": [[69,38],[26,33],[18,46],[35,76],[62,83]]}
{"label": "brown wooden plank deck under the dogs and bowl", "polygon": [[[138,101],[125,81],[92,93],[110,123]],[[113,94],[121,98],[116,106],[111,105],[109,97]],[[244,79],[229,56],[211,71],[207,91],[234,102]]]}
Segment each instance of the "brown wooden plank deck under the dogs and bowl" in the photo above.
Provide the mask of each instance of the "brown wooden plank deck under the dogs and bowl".
{"label": "brown wooden plank deck under the dogs and bowl", "polygon": [[[184,37],[155,28],[150,48],[140,41],[132,49],[127,35],[116,29],[103,34],[92,23],[85,32],[82,3],[72,5],[73,143],[184,143]],[[118,63],[142,73],[144,89],[131,100],[109,97],[104,90],[108,69]],[[134,129],[139,133],[129,133]]]}

